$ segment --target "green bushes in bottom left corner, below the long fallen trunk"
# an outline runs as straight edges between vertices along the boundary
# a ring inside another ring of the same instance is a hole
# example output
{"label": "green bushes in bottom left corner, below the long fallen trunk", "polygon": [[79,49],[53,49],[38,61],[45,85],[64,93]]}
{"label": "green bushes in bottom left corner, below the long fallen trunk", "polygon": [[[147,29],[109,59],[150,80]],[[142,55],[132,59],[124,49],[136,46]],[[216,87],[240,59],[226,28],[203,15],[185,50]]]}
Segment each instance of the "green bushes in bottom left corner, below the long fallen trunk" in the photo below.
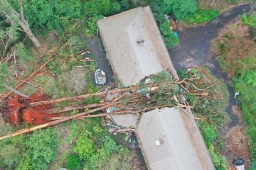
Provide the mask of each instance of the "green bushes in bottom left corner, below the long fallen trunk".
{"label": "green bushes in bottom left corner, below the long fallen trunk", "polygon": [[0,166],[4,169],[46,169],[58,146],[51,129],[38,130],[26,137],[12,137],[0,142]]}

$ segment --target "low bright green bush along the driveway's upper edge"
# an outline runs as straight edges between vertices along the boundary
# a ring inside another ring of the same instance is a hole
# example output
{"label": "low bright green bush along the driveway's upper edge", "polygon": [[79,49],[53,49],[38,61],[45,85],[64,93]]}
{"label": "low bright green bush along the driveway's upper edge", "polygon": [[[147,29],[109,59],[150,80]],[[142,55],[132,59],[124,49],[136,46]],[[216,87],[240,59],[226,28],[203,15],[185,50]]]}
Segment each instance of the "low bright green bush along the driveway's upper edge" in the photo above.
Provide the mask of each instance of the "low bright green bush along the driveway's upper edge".
{"label": "low bright green bush along the driveway's upper edge", "polygon": [[218,17],[219,12],[215,10],[197,10],[192,15],[186,16],[183,20],[188,23],[204,23]]}

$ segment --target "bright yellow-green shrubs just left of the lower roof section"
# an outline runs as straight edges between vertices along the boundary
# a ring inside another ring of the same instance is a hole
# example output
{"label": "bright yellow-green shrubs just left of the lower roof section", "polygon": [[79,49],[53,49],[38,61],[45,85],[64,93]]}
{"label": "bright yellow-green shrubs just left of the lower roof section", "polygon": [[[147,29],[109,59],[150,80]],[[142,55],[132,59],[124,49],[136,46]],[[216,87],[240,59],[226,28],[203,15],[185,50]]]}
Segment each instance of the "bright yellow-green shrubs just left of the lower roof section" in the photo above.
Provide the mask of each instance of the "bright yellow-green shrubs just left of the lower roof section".
{"label": "bright yellow-green shrubs just left of the lower roof section", "polygon": [[[74,151],[80,156],[82,162],[85,162],[84,169],[86,170],[105,169],[112,157],[117,157],[122,161],[129,156],[129,151],[117,145],[112,136],[102,127],[100,118],[89,118],[86,122],[75,121],[71,126],[71,132],[73,139],[77,139]],[[118,155],[123,155],[123,157],[118,157]],[[112,166],[116,164],[118,162]]]}

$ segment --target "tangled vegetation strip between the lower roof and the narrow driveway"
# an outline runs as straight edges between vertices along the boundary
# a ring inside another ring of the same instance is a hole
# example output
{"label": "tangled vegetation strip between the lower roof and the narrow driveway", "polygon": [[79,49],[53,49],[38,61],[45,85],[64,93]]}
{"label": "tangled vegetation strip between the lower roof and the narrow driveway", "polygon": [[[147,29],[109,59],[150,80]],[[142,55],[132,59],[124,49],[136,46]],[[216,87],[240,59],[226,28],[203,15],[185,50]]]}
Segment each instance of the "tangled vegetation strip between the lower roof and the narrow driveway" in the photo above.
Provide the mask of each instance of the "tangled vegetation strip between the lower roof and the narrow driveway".
{"label": "tangled vegetation strip between the lower roof and the narrow driveway", "polygon": [[[220,81],[210,74],[208,69],[191,69],[191,72],[186,70],[178,70],[178,76],[181,79],[189,77],[202,77],[208,81],[209,86],[213,86],[210,91],[214,94],[212,97],[198,97],[194,94],[186,96],[188,103],[193,106],[193,113],[199,120],[199,128],[206,142],[206,146],[213,159],[216,169],[228,169],[225,157],[221,156],[223,142],[218,136],[219,131],[225,124],[229,122],[228,114],[225,113],[225,108],[228,106],[228,88],[223,81]],[[203,88],[199,86],[199,88]]]}

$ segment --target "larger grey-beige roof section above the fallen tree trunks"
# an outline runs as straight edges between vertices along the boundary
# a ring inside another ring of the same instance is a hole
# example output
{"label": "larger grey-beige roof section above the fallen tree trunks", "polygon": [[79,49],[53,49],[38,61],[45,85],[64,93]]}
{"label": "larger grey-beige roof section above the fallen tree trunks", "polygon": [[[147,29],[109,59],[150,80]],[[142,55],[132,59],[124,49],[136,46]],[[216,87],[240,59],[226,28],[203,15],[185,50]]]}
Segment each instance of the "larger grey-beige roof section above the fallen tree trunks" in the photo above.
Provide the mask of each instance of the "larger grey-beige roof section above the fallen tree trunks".
{"label": "larger grey-beige roof section above the fallen tree trunks", "polygon": [[97,25],[113,72],[124,86],[163,70],[178,79],[149,6],[104,18]]}

